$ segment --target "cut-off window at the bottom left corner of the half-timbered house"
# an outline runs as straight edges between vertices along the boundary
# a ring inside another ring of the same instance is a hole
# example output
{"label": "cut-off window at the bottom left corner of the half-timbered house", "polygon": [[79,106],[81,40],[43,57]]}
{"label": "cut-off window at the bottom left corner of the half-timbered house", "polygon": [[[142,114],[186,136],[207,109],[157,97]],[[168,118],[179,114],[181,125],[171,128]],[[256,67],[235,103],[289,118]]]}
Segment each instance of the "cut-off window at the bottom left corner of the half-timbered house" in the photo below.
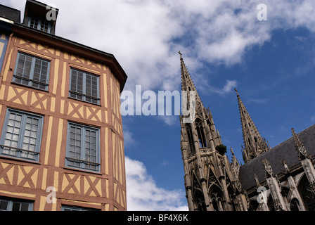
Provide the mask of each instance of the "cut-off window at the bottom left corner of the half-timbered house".
{"label": "cut-off window at the bottom left corner of the half-timbered house", "polygon": [[33,203],[19,199],[0,198],[0,211],[32,211]]}

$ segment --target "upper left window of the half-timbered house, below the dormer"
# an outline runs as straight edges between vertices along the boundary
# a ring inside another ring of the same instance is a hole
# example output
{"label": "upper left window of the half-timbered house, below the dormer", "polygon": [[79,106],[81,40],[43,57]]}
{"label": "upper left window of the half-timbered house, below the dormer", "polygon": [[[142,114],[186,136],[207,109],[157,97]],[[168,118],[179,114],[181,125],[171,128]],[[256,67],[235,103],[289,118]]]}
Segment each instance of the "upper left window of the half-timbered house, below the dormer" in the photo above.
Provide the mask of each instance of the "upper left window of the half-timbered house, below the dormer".
{"label": "upper left window of the half-timbered house, below the dormer", "polygon": [[50,62],[18,53],[13,82],[48,91]]}

